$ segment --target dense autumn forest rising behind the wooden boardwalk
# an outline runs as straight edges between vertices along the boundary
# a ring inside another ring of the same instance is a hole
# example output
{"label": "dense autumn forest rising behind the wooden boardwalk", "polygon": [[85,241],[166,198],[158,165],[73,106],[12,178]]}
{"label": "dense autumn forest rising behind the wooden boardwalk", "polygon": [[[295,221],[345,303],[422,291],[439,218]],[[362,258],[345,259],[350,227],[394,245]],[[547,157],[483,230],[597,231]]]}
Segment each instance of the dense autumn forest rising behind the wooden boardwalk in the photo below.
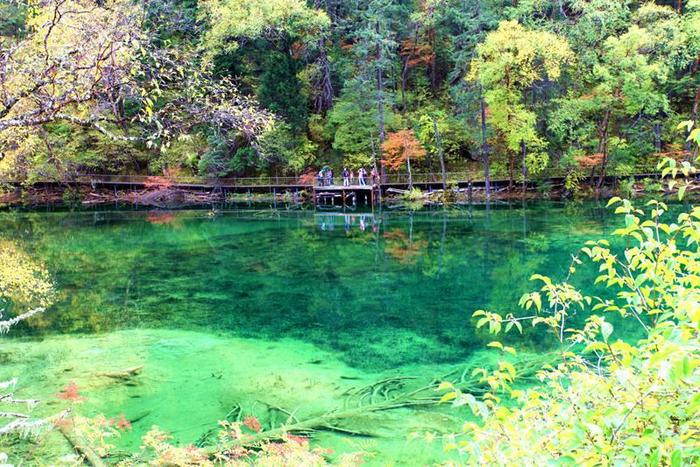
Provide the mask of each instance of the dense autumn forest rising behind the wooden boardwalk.
{"label": "dense autumn forest rising behind the wooden boardwalk", "polygon": [[700,104],[697,0],[3,0],[0,47],[25,184],[407,160],[602,183],[683,158]]}

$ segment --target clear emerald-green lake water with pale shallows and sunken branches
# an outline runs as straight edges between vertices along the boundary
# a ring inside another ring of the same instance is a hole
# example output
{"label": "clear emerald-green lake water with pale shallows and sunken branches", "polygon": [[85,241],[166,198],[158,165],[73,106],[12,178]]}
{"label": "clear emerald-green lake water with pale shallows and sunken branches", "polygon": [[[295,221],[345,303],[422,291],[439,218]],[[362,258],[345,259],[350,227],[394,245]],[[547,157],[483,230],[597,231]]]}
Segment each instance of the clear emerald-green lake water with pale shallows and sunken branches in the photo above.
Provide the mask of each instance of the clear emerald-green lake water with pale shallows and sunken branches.
{"label": "clear emerald-green lake water with pale shallows and sunken branches", "polygon": [[[271,407],[323,413],[358,385],[429,382],[488,361],[493,338],[472,312],[517,311],[533,273],[564,277],[585,240],[618,226],[597,203],[0,212],[0,239],[42,261],[58,290],[46,313],[2,337],[0,380],[19,377],[41,414],[63,408],[56,394],[75,383],[77,413],[131,421],[117,450],[138,450],[153,425],[194,443],[236,405],[263,421]],[[532,330],[508,339],[533,354],[552,345]],[[128,384],[105,376],[134,367]],[[466,416],[375,413],[351,421],[375,437],[319,432],[313,444],[376,465],[446,460],[439,440],[408,436],[449,433]]]}

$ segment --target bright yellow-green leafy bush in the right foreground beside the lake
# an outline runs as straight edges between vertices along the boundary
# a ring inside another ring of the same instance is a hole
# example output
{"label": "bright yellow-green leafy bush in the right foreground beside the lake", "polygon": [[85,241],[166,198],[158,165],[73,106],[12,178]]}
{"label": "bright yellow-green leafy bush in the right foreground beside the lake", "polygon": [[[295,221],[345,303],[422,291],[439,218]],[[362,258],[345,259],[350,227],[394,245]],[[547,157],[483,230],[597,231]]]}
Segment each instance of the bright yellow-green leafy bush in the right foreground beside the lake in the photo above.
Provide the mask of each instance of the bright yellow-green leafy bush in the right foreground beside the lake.
{"label": "bright yellow-green leafy bush in the right foreground beside the lake", "polygon": [[[619,198],[609,206],[624,216],[614,235],[627,248],[616,253],[599,240],[581,253],[599,265],[596,283],[605,283],[614,298],[588,297],[568,278],[556,283],[535,275],[540,289],[521,299],[532,313],[474,313],[477,326],[494,334],[544,326],[559,341],[560,358],[539,372],[540,385],[525,390],[512,389],[516,368],[509,364],[477,370],[492,388],[481,400],[443,385],[455,406],[470,406],[480,419],[466,423],[447,446],[469,463],[700,461],[700,208],[665,223],[668,207],[660,201],[648,202],[648,212]],[[574,257],[570,274],[579,263]],[[582,327],[570,325],[574,314],[588,311]],[[617,338],[606,315],[634,320],[643,337],[635,343]],[[490,346],[515,351],[498,342]]]}

